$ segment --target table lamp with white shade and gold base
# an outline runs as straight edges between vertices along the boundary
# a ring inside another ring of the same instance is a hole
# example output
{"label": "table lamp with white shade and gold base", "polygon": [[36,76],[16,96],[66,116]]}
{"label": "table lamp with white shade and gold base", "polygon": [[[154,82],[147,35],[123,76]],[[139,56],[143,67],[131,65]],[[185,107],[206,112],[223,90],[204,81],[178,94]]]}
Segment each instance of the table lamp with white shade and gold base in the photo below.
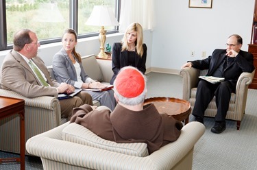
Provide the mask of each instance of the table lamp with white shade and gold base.
{"label": "table lamp with white shade and gold base", "polygon": [[104,52],[104,44],[106,42],[106,30],[104,29],[104,26],[119,25],[119,22],[112,12],[111,6],[95,5],[88,21],[86,21],[86,25],[101,26],[101,29],[99,30],[100,52],[98,57],[108,58],[107,54]]}

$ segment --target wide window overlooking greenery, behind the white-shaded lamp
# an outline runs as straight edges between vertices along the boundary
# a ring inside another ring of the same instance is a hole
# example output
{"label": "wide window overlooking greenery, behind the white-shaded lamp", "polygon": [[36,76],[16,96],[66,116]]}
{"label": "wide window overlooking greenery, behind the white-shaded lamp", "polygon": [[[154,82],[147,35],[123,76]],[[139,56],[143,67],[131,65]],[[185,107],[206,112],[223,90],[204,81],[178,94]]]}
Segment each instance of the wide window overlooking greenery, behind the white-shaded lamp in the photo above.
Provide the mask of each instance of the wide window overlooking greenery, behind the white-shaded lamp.
{"label": "wide window overlooking greenery, behind the white-shaded lamp", "polygon": [[[36,32],[41,44],[59,42],[66,28],[73,28],[79,38],[95,36],[99,27],[86,25],[94,5],[111,5],[115,16],[121,0],[2,0],[0,2],[0,50],[11,49],[16,31]],[[118,17],[117,17],[118,19]],[[117,27],[106,27],[117,32]],[[95,33],[95,34],[94,34]]]}

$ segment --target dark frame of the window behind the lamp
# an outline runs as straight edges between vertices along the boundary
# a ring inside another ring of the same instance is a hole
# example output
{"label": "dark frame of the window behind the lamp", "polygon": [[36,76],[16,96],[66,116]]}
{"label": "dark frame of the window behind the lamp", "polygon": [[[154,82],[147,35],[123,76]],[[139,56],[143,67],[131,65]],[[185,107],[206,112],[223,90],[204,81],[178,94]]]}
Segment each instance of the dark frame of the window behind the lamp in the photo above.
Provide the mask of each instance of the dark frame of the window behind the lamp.
{"label": "dark frame of the window behind the lamp", "polygon": [[[79,0],[70,0],[69,5],[69,27],[74,29],[76,32],[78,30],[78,1]],[[119,21],[121,9],[121,0],[116,0],[114,15]],[[116,26],[115,29],[107,30],[106,34],[114,34],[119,32],[119,27]],[[98,36],[98,32],[92,32],[88,34],[79,34],[77,38],[88,38],[92,36]],[[51,44],[54,42],[60,42],[60,38],[49,38],[45,40],[40,40],[41,45]],[[6,1],[0,1],[0,51],[12,49],[13,45],[7,43],[7,23],[6,23]]]}

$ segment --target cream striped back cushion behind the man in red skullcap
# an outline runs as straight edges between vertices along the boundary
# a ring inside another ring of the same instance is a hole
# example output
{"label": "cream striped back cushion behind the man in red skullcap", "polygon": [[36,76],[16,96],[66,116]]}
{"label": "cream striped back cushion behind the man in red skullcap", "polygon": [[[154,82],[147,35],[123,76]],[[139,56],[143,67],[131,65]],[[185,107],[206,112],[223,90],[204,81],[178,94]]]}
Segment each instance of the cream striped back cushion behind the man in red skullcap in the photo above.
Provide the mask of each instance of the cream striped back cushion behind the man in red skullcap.
{"label": "cream striped back cushion behind the man in red skullcap", "polygon": [[77,123],[71,123],[64,127],[62,130],[62,140],[131,156],[148,156],[146,143],[115,143],[108,141]]}

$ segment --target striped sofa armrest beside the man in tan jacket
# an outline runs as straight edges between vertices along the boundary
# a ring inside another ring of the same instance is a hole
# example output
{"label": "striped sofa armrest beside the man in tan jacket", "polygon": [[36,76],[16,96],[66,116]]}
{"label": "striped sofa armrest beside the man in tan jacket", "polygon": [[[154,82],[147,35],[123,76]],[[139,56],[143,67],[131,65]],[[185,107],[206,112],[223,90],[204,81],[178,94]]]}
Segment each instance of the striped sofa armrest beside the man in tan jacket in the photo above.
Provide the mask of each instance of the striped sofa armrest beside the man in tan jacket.
{"label": "striped sofa armrest beside the man in tan jacket", "polygon": [[[55,97],[27,98],[12,90],[0,89],[5,97],[24,99],[25,101],[25,141],[61,124],[60,102]],[[1,119],[0,150],[20,152],[19,115]],[[12,135],[10,135],[12,134]]]}

